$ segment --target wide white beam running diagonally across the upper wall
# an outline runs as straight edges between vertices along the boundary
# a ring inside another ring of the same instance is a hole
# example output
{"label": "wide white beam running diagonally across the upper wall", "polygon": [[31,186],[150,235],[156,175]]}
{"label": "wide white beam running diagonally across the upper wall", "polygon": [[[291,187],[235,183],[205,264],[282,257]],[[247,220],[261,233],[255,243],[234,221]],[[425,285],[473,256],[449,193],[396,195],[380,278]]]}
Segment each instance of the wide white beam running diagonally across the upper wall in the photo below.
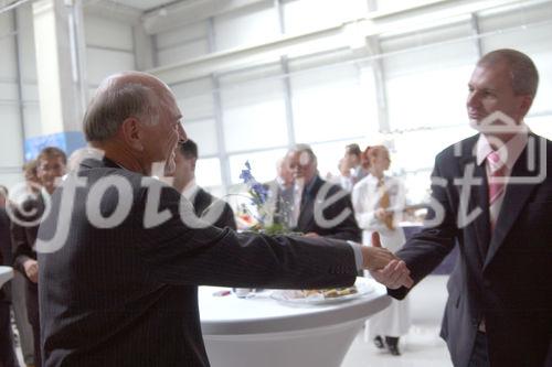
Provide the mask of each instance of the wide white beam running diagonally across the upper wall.
{"label": "wide white beam running diagonally across the upper wall", "polygon": [[[247,0],[243,0],[247,1]],[[526,1],[522,4],[538,3],[541,0]],[[393,11],[370,12],[365,17],[336,24],[309,33],[278,36],[272,41],[224,52],[211,53],[194,60],[150,69],[166,83],[173,84],[224,73],[255,63],[276,62],[282,55],[302,50],[307,43],[319,43],[323,47],[326,40],[343,36],[342,45],[347,46],[347,35],[351,26],[363,36],[408,33],[412,30],[429,28],[433,22],[444,19],[457,20],[478,11],[497,7],[520,3],[520,0],[432,0],[417,6],[404,7]],[[333,42],[328,43],[335,47]]]}

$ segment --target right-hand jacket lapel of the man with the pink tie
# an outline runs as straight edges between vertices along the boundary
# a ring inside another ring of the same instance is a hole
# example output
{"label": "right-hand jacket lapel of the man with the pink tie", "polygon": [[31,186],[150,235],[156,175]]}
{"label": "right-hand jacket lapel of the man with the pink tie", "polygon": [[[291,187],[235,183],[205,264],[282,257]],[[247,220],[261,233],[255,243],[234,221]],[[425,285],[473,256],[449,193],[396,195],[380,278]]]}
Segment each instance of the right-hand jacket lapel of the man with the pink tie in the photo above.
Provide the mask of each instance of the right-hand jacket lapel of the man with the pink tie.
{"label": "right-hand jacket lapel of the man with the pink tie", "polygon": [[[518,161],[512,168],[512,177],[534,177],[534,172],[528,169],[528,148],[521,152]],[[538,166],[538,165],[537,165]],[[505,198],[500,208],[500,214],[497,218],[495,233],[489,245],[487,258],[485,259],[484,269],[489,265],[500,246],[503,244],[506,236],[516,223],[521,209],[523,208],[531,192],[537,187],[534,183],[513,183],[508,184],[505,192]]]}

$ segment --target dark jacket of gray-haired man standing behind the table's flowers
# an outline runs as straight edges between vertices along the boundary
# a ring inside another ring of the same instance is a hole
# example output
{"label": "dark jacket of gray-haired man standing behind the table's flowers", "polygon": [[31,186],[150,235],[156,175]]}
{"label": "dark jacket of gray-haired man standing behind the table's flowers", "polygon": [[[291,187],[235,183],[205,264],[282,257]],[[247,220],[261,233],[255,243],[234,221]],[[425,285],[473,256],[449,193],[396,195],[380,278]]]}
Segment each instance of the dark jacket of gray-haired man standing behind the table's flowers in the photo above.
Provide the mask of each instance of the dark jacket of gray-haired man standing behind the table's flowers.
{"label": "dark jacket of gray-haired man standing behind the table's flowers", "polygon": [[[304,190],[299,218],[297,227],[294,230],[305,234],[314,231],[317,235],[328,238],[360,242],[361,231],[357,225],[357,219],[354,219],[351,195],[338,185],[323,181],[318,175],[312,180],[315,180],[315,183],[310,191],[308,190],[309,187],[305,187]],[[338,194],[343,196],[333,203],[328,201],[328,198]],[[327,227],[318,220],[317,213],[323,216],[323,219],[337,223]]]}

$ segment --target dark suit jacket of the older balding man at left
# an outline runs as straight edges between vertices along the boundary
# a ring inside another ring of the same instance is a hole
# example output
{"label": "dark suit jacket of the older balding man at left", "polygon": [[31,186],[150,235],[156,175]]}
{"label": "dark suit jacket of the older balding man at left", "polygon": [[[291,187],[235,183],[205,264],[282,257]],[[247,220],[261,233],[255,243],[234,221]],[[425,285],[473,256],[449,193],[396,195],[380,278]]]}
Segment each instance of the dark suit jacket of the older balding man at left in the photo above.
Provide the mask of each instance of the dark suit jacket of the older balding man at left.
{"label": "dark suit jacket of the older balding man at left", "polygon": [[[195,217],[193,208],[177,191],[107,159],[84,161],[78,175],[86,186],[73,194],[75,173],[70,174],[53,194],[51,215],[39,230],[41,240],[55,238],[39,248],[46,367],[209,366],[198,285],[320,288],[354,282],[350,246],[240,235],[189,222]],[[117,194],[112,186],[88,197],[95,183],[115,177],[128,183],[127,190]],[[155,207],[150,204],[158,195]],[[87,218],[86,202],[94,199],[104,217],[119,201],[130,204],[128,215],[110,226],[93,225],[97,219]],[[62,203],[72,208],[61,211]],[[150,225],[156,213],[168,215],[167,220]],[[67,236],[56,230],[67,230]]]}

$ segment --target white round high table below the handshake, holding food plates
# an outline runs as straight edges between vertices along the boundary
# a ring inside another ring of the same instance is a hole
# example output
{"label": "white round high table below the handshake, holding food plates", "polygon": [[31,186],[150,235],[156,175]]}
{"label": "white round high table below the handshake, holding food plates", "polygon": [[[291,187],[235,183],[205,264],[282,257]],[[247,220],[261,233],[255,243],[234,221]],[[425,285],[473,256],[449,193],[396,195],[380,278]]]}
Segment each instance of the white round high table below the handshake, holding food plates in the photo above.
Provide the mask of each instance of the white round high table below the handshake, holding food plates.
{"label": "white round high table below the handshake, holding food plates", "polygon": [[287,304],[265,291],[250,299],[200,287],[203,339],[212,367],[338,367],[364,320],[385,309],[385,288],[331,304]]}

